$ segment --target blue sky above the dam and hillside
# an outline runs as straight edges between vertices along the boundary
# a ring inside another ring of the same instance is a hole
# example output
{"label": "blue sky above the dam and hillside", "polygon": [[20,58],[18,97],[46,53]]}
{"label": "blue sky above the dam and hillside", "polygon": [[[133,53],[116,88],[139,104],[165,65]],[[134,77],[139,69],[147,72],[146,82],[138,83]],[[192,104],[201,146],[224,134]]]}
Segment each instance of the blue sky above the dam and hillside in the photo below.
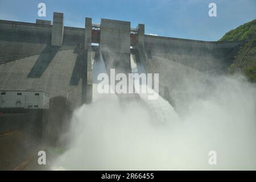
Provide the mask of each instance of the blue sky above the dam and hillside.
{"label": "blue sky above the dam and hillside", "polygon": [[[46,17],[38,16],[38,4],[46,4]],[[210,17],[209,3],[217,16]],[[0,19],[35,23],[64,13],[64,26],[84,27],[101,18],[126,20],[131,27],[145,24],[146,34],[172,38],[216,41],[226,32],[256,19],[256,0],[0,0]]]}

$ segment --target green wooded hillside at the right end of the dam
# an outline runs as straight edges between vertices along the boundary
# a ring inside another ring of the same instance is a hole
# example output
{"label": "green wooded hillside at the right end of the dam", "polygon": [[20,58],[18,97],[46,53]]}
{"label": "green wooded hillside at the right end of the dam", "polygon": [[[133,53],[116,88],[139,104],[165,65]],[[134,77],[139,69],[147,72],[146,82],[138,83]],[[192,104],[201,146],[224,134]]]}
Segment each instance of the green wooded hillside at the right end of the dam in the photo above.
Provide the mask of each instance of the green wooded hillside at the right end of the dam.
{"label": "green wooded hillside at the right end of the dam", "polygon": [[227,32],[219,41],[243,40],[228,73],[241,72],[251,82],[256,82],[256,19]]}

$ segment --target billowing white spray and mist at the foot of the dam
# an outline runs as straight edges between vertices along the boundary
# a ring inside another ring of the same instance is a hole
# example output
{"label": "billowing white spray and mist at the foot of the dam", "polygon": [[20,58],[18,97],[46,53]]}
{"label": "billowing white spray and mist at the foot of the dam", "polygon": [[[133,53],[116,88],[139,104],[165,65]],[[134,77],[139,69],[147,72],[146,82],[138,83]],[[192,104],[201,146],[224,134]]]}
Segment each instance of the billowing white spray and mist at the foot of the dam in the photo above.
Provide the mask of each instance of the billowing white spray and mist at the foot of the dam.
{"label": "billowing white spray and mist at the foot of the dam", "polygon": [[[92,104],[75,111],[69,150],[52,168],[256,169],[255,85],[241,76],[210,82],[182,114],[161,97],[124,104],[94,91]],[[216,151],[216,165],[209,151]]]}

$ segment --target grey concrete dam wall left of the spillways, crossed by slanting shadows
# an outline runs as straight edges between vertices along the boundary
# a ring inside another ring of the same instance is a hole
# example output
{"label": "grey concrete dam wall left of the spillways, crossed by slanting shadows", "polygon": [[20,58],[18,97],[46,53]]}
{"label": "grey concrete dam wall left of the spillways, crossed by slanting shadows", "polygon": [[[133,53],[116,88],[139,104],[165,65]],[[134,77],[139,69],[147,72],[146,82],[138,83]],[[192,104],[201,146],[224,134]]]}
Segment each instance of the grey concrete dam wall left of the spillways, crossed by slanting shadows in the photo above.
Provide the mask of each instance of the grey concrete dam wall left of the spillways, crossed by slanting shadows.
{"label": "grey concrete dam wall left of the spillways, crossed by slanting shadows", "polygon": [[61,46],[53,46],[52,25],[1,20],[0,88],[42,89],[79,107],[86,79],[84,34],[84,28],[64,27]]}

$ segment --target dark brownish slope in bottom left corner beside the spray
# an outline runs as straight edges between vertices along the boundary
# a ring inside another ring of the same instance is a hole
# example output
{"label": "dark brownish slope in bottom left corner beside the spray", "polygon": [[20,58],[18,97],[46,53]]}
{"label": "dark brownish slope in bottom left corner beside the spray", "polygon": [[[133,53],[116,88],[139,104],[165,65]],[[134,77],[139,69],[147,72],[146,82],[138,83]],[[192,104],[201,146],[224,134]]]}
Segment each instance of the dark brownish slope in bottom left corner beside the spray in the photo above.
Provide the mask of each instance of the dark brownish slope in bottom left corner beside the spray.
{"label": "dark brownish slope in bottom left corner beside the spray", "polygon": [[0,135],[0,170],[49,170],[38,164],[38,151],[44,146],[22,131]]}

